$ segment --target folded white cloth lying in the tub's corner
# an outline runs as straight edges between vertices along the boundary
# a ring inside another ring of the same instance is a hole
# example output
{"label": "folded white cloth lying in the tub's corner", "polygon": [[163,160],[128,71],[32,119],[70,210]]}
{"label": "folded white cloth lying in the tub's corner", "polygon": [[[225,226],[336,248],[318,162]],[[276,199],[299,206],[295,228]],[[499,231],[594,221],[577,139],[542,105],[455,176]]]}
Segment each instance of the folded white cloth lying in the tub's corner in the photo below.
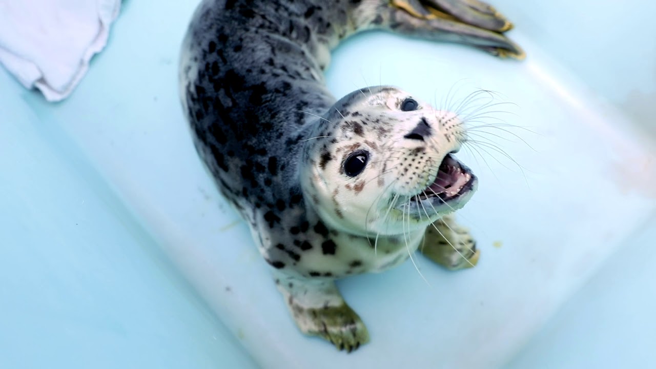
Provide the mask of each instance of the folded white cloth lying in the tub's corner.
{"label": "folded white cloth lying in the tub's corner", "polygon": [[49,101],[72,93],[107,43],[121,0],[0,0],[0,63]]}

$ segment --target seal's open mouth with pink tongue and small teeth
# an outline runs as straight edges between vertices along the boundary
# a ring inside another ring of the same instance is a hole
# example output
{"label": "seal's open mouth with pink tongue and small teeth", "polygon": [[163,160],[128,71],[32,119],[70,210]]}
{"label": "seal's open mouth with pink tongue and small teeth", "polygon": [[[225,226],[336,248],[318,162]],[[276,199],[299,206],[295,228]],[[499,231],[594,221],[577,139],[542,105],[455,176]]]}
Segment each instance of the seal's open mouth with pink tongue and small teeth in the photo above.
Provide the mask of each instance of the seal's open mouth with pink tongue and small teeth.
{"label": "seal's open mouth with pink tongue and small teeth", "polygon": [[[477,182],[478,179],[468,167],[453,155],[447,154],[440,164],[435,181],[410,198],[407,210],[410,213],[424,213],[428,209],[440,211],[440,206],[450,210],[459,209],[474,194]],[[427,201],[430,202],[430,207],[420,205]]]}

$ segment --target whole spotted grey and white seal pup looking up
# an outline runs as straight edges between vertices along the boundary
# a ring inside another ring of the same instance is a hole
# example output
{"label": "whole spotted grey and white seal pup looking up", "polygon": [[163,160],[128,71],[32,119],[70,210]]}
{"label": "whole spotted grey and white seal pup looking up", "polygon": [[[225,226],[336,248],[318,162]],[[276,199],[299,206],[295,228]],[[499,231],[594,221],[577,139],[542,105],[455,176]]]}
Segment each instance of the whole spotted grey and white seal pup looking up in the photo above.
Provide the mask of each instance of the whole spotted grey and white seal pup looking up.
{"label": "whole spotted grey and white seal pup looking up", "polygon": [[180,56],[182,106],[302,332],[357,349],[369,334],[337,278],[394,267],[420,244],[449,269],[479,255],[450,215],[476,190],[453,156],[461,120],[390,86],[336,101],[331,49],[379,29],[522,58],[510,28],[478,0],[201,2]]}

